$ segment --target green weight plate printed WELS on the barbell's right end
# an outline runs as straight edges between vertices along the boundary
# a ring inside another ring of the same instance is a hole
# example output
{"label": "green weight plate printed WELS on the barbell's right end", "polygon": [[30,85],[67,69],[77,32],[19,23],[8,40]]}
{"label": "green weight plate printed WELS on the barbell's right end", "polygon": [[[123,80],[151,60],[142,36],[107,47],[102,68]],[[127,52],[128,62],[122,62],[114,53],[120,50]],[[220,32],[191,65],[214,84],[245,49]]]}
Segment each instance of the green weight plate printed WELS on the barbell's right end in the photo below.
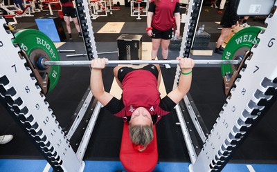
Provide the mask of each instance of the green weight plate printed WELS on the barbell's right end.
{"label": "green weight plate printed WELS on the barbell's right end", "polygon": [[[222,54],[223,60],[232,60],[235,59],[238,55],[244,55],[245,52],[250,50],[253,44],[258,44],[259,39],[257,39],[257,35],[261,30],[265,30],[265,28],[258,26],[251,26],[249,28],[244,28],[237,32],[231,39],[228,41],[224,52]],[[233,73],[234,65],[231,64],[222,64],[222,76],[226,75],[226,73]]]}

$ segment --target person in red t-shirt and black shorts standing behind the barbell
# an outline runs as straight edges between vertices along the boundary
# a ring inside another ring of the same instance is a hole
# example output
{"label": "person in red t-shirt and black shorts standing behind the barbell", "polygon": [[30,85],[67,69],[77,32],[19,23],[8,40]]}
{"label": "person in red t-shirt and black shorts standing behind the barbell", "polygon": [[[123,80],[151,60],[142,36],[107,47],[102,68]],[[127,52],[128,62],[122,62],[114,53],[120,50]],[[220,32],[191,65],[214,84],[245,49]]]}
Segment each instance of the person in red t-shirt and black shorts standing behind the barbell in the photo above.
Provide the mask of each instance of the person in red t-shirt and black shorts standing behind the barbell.
{"label": "person in red t-shirt and black shorts standing behind the barbell", "polygon": [[[147,17],[148,36],[152,38],[152,60],[157,57],[161,45],[163,59],[168,59],[168,46],[172,38],[172,30],[176,22],[175,37],[180,35],[180,3],[179,0],[150,0]],[[170,68],[169,64],[165,65]]]}

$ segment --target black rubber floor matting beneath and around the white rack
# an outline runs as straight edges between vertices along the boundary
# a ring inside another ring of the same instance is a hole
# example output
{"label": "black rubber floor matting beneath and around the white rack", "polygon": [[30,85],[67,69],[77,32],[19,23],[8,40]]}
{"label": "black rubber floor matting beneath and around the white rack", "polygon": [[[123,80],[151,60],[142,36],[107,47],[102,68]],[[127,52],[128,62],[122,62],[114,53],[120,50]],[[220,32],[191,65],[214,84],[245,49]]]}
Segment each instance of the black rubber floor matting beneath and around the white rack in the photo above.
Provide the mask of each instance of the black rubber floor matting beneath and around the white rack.
{"label": "black rubber floor matting beneath and around the white rack", "polygon": [[[166,90],[172,89],[175,68],[162,68]],[[62,127],[78,106],[89,86],[89,68],[66,67],[57,88],[46,97]],[[111,68],[105,69],[105,86],[109,90],[112,81]],[[195,68],[190,94],[208,128],[211,128],[224,103],[220,68]],[[253,128],[247,140],[235,151],[232,160],[238,162],[276,162],[276,106],[273,106],[261,122]],[[9,144],[0,146],[0,158],[40,159],[42,155],[28,140],[21,129],[1,106],[1,134],[15,135]],[[157,124],[159,160],[166,162],[189,162],[184,137],[174,112],[166,115]],[[100,111],[91,141],[84,156],[85,160],[118,160],[123,122],[109,114],[105,108]],[[253,151],[256,150],[256,151]]]}

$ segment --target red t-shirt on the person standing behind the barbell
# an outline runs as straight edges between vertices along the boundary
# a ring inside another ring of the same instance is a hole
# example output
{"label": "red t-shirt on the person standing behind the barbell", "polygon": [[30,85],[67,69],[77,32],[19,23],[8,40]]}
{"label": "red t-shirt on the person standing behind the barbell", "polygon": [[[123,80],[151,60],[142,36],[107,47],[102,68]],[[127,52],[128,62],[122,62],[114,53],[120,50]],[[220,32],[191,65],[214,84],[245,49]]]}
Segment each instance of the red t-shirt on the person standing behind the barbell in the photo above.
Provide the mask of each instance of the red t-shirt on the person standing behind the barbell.
{"label": "red t-shirt on the person standing behind the barbell", "polygon": [[179,0],[161,0],[157,4],[150,0],[148,11],[154,12],[152,17],[152,27],[157,30],[166,31],[172,28],[174,13],[180,12]]}

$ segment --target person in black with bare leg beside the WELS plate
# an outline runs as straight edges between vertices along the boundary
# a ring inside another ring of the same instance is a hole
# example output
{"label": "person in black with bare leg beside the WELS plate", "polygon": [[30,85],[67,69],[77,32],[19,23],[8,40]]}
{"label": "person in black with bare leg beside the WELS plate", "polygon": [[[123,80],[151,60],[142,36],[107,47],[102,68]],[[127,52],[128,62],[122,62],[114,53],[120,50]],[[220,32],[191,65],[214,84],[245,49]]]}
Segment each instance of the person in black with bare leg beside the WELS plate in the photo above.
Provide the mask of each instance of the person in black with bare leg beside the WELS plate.
{"label": "person in black with bare leg beside the WELS plate", "polygon": [[220,25],[222,26],[220,37],[217,39],[217,44],[215,46],[215,53],[222,55],[224,48],[222,44],[235,26],[238,26],[239,17],[235,11],[235,2],[236,0],[229,0],[228,6],[222,16]]}

